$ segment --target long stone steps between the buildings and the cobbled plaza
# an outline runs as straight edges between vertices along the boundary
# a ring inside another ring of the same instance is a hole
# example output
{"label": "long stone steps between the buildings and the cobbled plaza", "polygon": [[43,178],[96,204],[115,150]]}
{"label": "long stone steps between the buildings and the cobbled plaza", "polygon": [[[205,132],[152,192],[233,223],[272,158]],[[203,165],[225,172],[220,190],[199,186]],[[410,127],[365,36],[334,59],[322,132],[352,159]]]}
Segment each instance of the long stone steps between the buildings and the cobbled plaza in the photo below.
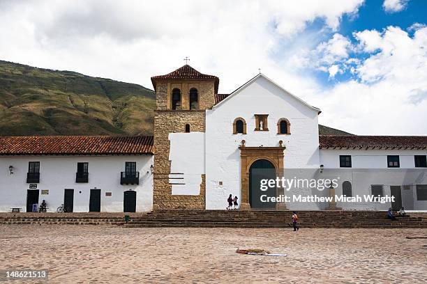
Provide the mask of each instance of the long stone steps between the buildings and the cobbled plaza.
{"label": "long stone steps between the buildings and the cobbled plaza", "polygon": [[[272,210],[156,210],[148,213],[1,213],[3,224],[107,225],[147,227],[288,228],[290,211]],[[301,228],[427,228],[427,213],[387,219],[386,212],[301,211]]]}

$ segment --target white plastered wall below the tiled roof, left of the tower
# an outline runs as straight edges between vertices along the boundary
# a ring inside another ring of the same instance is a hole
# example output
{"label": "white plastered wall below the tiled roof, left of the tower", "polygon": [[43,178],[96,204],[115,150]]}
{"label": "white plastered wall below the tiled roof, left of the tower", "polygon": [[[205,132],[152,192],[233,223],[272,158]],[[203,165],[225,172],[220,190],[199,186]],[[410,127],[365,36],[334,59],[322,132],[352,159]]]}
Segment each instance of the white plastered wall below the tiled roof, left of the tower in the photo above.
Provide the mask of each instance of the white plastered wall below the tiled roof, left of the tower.
{"label": "white plastered wall below the tiled roof, left of the tower", "polygon": [[[64,189],[74,189],[73,212],[89,212],[90,189],[101,189],[101,212],[123,212],[123,191],[137,191],[137,212],[153,207],[153,175],[150,166],[153,155],[135,156],[0,156],[0,212],[10,212],[11,207],[27,207],[27,172],[29,161],[40,161],[39,204],[44,199],[50,212],[63,203]],[[126,161],[136,161],[140,184],[120,184],[120,172]],[[89,163],[89,182],[76,183],[77,162]],[[13,166],[13,174],[9,172]],[[41,190],[49,194],[41,194]],[[105,196],[111,192],[112,196]]]}

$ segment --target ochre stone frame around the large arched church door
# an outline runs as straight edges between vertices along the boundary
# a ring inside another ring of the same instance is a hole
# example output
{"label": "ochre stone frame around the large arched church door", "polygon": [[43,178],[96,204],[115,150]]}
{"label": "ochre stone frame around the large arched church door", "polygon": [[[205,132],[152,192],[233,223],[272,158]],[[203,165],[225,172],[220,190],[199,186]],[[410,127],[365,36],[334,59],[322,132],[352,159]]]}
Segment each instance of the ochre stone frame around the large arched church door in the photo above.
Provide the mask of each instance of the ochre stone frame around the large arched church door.
{"label": "ochre stone frame around the large arched church door", "polygon": [[[281,142],[281,141],[280,141]],[[241,161],[241,205],[240,209],[250,210],[249,204],[249,169],[252,164],[260,159],[266,159],[274,165],[276,175],[283,177],[283,150],[285,147],[280,143],[279,147],[246,147],[244,143],[239,147]],[[277,195],[280,190],[277,189]],[[285,203],[276,203],[276,209],[285,209]]]}

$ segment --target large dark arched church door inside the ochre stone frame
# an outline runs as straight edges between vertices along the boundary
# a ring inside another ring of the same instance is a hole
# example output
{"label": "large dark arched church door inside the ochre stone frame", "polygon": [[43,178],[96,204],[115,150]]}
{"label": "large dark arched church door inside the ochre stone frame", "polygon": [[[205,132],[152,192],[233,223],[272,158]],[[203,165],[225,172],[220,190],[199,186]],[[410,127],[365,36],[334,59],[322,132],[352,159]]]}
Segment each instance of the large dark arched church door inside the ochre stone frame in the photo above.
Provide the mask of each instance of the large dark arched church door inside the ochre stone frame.
{"label": "large dark arched church door inside the ochre stone frame", "polygon": [[[276,202],[263,202],[267,197],[276,197],[276,187],[268,187],[266,191],[260,189],[262,180],[276,180],[276,168],[267,159],[254,161],[249,168],[249,204],[250,208],[274,209]],[[263,197],[262,197],[263,196]],[[263,200],[262,200],[263,199]]]}

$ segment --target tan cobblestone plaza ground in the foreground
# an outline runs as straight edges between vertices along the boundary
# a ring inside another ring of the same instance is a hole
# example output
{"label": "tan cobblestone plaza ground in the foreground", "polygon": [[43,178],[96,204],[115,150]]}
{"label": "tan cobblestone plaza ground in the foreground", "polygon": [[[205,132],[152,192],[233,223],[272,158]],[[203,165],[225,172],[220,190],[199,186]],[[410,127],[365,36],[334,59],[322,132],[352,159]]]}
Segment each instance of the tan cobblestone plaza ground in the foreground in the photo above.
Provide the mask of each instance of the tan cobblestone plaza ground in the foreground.
{"label": "tan cobblestone plaza ground in the foreground", "polygon": [[48,283],[426,283],[427,239],[414,235],[427,229],[4,225],[0,269],[49,269]]}

